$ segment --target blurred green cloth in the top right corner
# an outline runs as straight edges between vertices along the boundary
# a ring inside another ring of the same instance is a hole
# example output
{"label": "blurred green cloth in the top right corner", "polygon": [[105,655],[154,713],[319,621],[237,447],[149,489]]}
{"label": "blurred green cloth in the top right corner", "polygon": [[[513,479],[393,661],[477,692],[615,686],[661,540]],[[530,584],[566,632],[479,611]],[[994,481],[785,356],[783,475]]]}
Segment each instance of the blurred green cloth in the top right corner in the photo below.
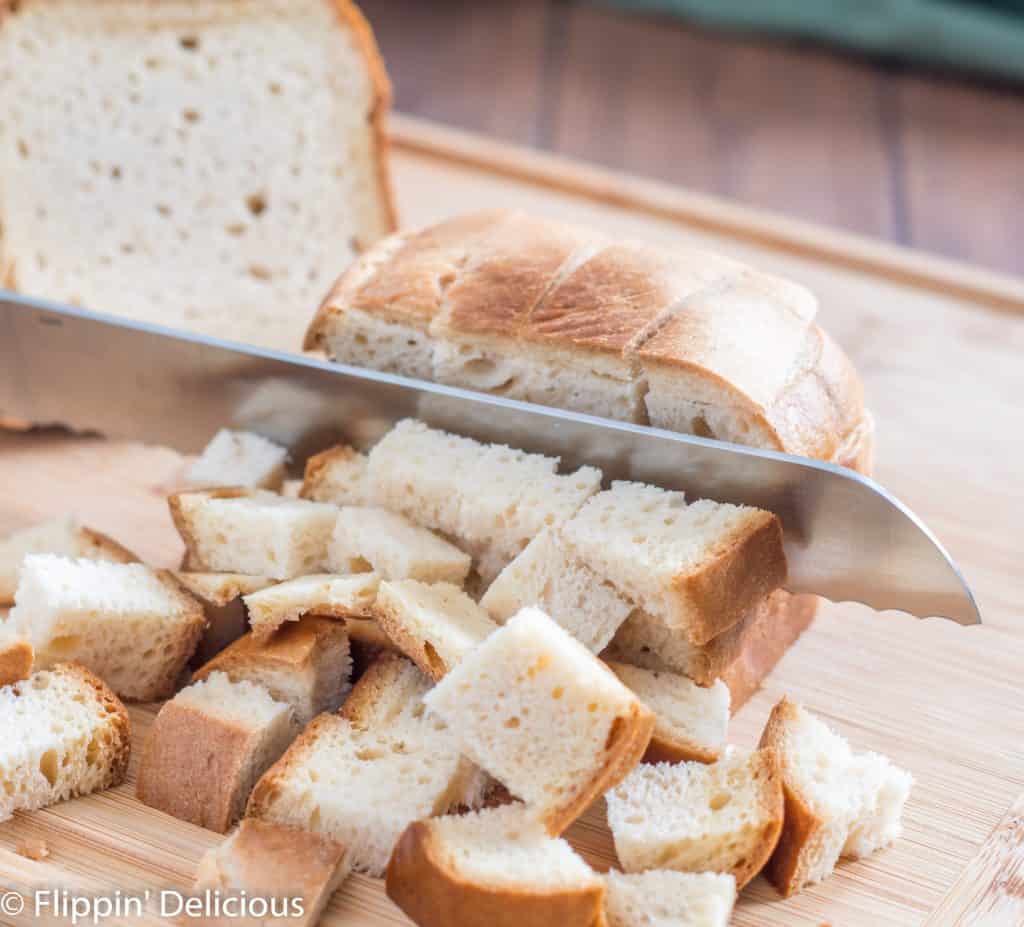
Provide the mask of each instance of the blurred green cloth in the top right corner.
{"label": "blurred green cloth in the top right corner", "polygon": [[1024,81],[1024,0],[610,0],[707,26],[817,39]]}

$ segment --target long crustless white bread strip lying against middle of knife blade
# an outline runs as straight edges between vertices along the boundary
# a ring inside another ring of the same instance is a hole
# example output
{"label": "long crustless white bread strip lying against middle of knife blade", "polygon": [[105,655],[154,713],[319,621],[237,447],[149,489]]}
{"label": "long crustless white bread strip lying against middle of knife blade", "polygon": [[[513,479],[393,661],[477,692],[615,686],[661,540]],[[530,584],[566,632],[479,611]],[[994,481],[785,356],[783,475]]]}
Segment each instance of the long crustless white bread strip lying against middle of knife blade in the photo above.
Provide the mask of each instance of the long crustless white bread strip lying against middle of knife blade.
{"label": "long crustless white bread strip lying against middle of knife blade", "polygon": [[601,484],[582,467],[559,474],[558,459],[483,445],[407,419],[370,452],[375,505],[452,540],[489,583],[546,525],[571,517]]}

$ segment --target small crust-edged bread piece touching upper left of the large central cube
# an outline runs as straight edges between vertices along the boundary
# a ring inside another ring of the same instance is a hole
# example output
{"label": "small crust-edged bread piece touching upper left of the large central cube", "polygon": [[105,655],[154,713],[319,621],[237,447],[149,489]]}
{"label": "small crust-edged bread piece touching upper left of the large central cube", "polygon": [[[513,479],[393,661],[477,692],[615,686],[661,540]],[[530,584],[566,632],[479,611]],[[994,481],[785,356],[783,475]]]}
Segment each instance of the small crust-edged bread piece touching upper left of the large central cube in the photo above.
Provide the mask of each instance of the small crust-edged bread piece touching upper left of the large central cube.
{"label": "small crust-edged bread piece touching upper left of the large central cube", "polygon": [[381,583],[375,612],[395,646],[435,682],[498,627],[451,583]]}

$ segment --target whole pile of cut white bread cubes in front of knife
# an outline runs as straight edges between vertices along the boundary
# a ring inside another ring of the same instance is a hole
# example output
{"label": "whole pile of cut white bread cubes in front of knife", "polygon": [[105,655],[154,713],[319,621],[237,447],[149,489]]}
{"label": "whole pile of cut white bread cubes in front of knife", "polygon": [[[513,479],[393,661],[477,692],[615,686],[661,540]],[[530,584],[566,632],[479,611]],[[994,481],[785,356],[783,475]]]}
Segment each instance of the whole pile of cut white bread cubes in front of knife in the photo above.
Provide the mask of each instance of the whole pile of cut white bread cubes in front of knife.
{"label": "whole pile of cut white bread cubes in front of knife", "polygon": [[[178,572],[73,519],[0,544],[0,820],[121,784],[121,700],[168,700],[138,798],[228,834],[197,889],[290,923],[355,871],[423,927],[724,925],[899,834],[910,776],[803,707],[727,746],[813,615],[773,514],[414,420],[285,457],[215,436]],[[621,872],[561,837],[602,796]]]}

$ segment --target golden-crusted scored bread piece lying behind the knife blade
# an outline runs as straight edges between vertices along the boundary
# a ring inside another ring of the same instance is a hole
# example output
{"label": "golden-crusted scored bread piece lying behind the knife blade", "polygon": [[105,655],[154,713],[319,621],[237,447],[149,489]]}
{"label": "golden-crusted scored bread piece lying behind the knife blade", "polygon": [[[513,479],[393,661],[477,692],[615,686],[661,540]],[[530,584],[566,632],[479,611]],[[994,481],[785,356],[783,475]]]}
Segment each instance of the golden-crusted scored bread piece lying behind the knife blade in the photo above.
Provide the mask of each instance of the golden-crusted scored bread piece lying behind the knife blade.
{"label": "golden-crusted scored bread piece lying behind the knife blade", "polygon": [[870,461],[852,366],[797,284],[495,210],[380,242],[306,333],[333,360],[638,424]]}

